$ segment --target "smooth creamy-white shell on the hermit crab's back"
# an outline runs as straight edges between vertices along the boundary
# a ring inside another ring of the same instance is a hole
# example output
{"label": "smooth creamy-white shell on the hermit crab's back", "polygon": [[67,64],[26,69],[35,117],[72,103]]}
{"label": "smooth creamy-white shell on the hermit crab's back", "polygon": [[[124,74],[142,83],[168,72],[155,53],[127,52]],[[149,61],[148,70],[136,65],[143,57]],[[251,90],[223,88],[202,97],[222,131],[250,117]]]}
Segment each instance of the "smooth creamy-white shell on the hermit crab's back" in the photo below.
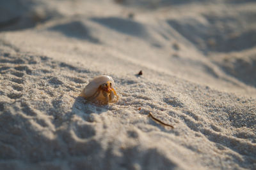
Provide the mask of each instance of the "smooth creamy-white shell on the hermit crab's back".
{"label": "smooth creamy-white shell on the hermit crab's back", "polygon": [[85,98],[93,96],[93,94],[95,94],[99,86],[102,85],[103,83],[106,83],[107,81],[111,81],[112,87],[114,87],[115,83],[113,78],[111,78],[111,76],[107,76],[107,75],[95,76],[95,78],[93,78],[88,83],[88,85],[84,87],[81,93],[81,96]]}

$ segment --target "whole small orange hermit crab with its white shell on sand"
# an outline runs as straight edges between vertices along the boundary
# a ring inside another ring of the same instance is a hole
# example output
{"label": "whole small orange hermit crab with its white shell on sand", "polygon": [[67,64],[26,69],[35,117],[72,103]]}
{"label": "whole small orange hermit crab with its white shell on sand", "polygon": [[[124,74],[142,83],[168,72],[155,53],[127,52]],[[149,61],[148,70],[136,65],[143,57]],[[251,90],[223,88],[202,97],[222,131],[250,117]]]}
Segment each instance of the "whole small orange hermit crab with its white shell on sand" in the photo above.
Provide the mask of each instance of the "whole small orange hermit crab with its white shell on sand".
{"label": "whole small orange hermit crab with its white shell on sand", "polygon": [[86,87],[82,90],[80,96],[87,101],[99,104],[108,104],[118,101],[115,85],[111,76],[101,75],[95,76]]}

